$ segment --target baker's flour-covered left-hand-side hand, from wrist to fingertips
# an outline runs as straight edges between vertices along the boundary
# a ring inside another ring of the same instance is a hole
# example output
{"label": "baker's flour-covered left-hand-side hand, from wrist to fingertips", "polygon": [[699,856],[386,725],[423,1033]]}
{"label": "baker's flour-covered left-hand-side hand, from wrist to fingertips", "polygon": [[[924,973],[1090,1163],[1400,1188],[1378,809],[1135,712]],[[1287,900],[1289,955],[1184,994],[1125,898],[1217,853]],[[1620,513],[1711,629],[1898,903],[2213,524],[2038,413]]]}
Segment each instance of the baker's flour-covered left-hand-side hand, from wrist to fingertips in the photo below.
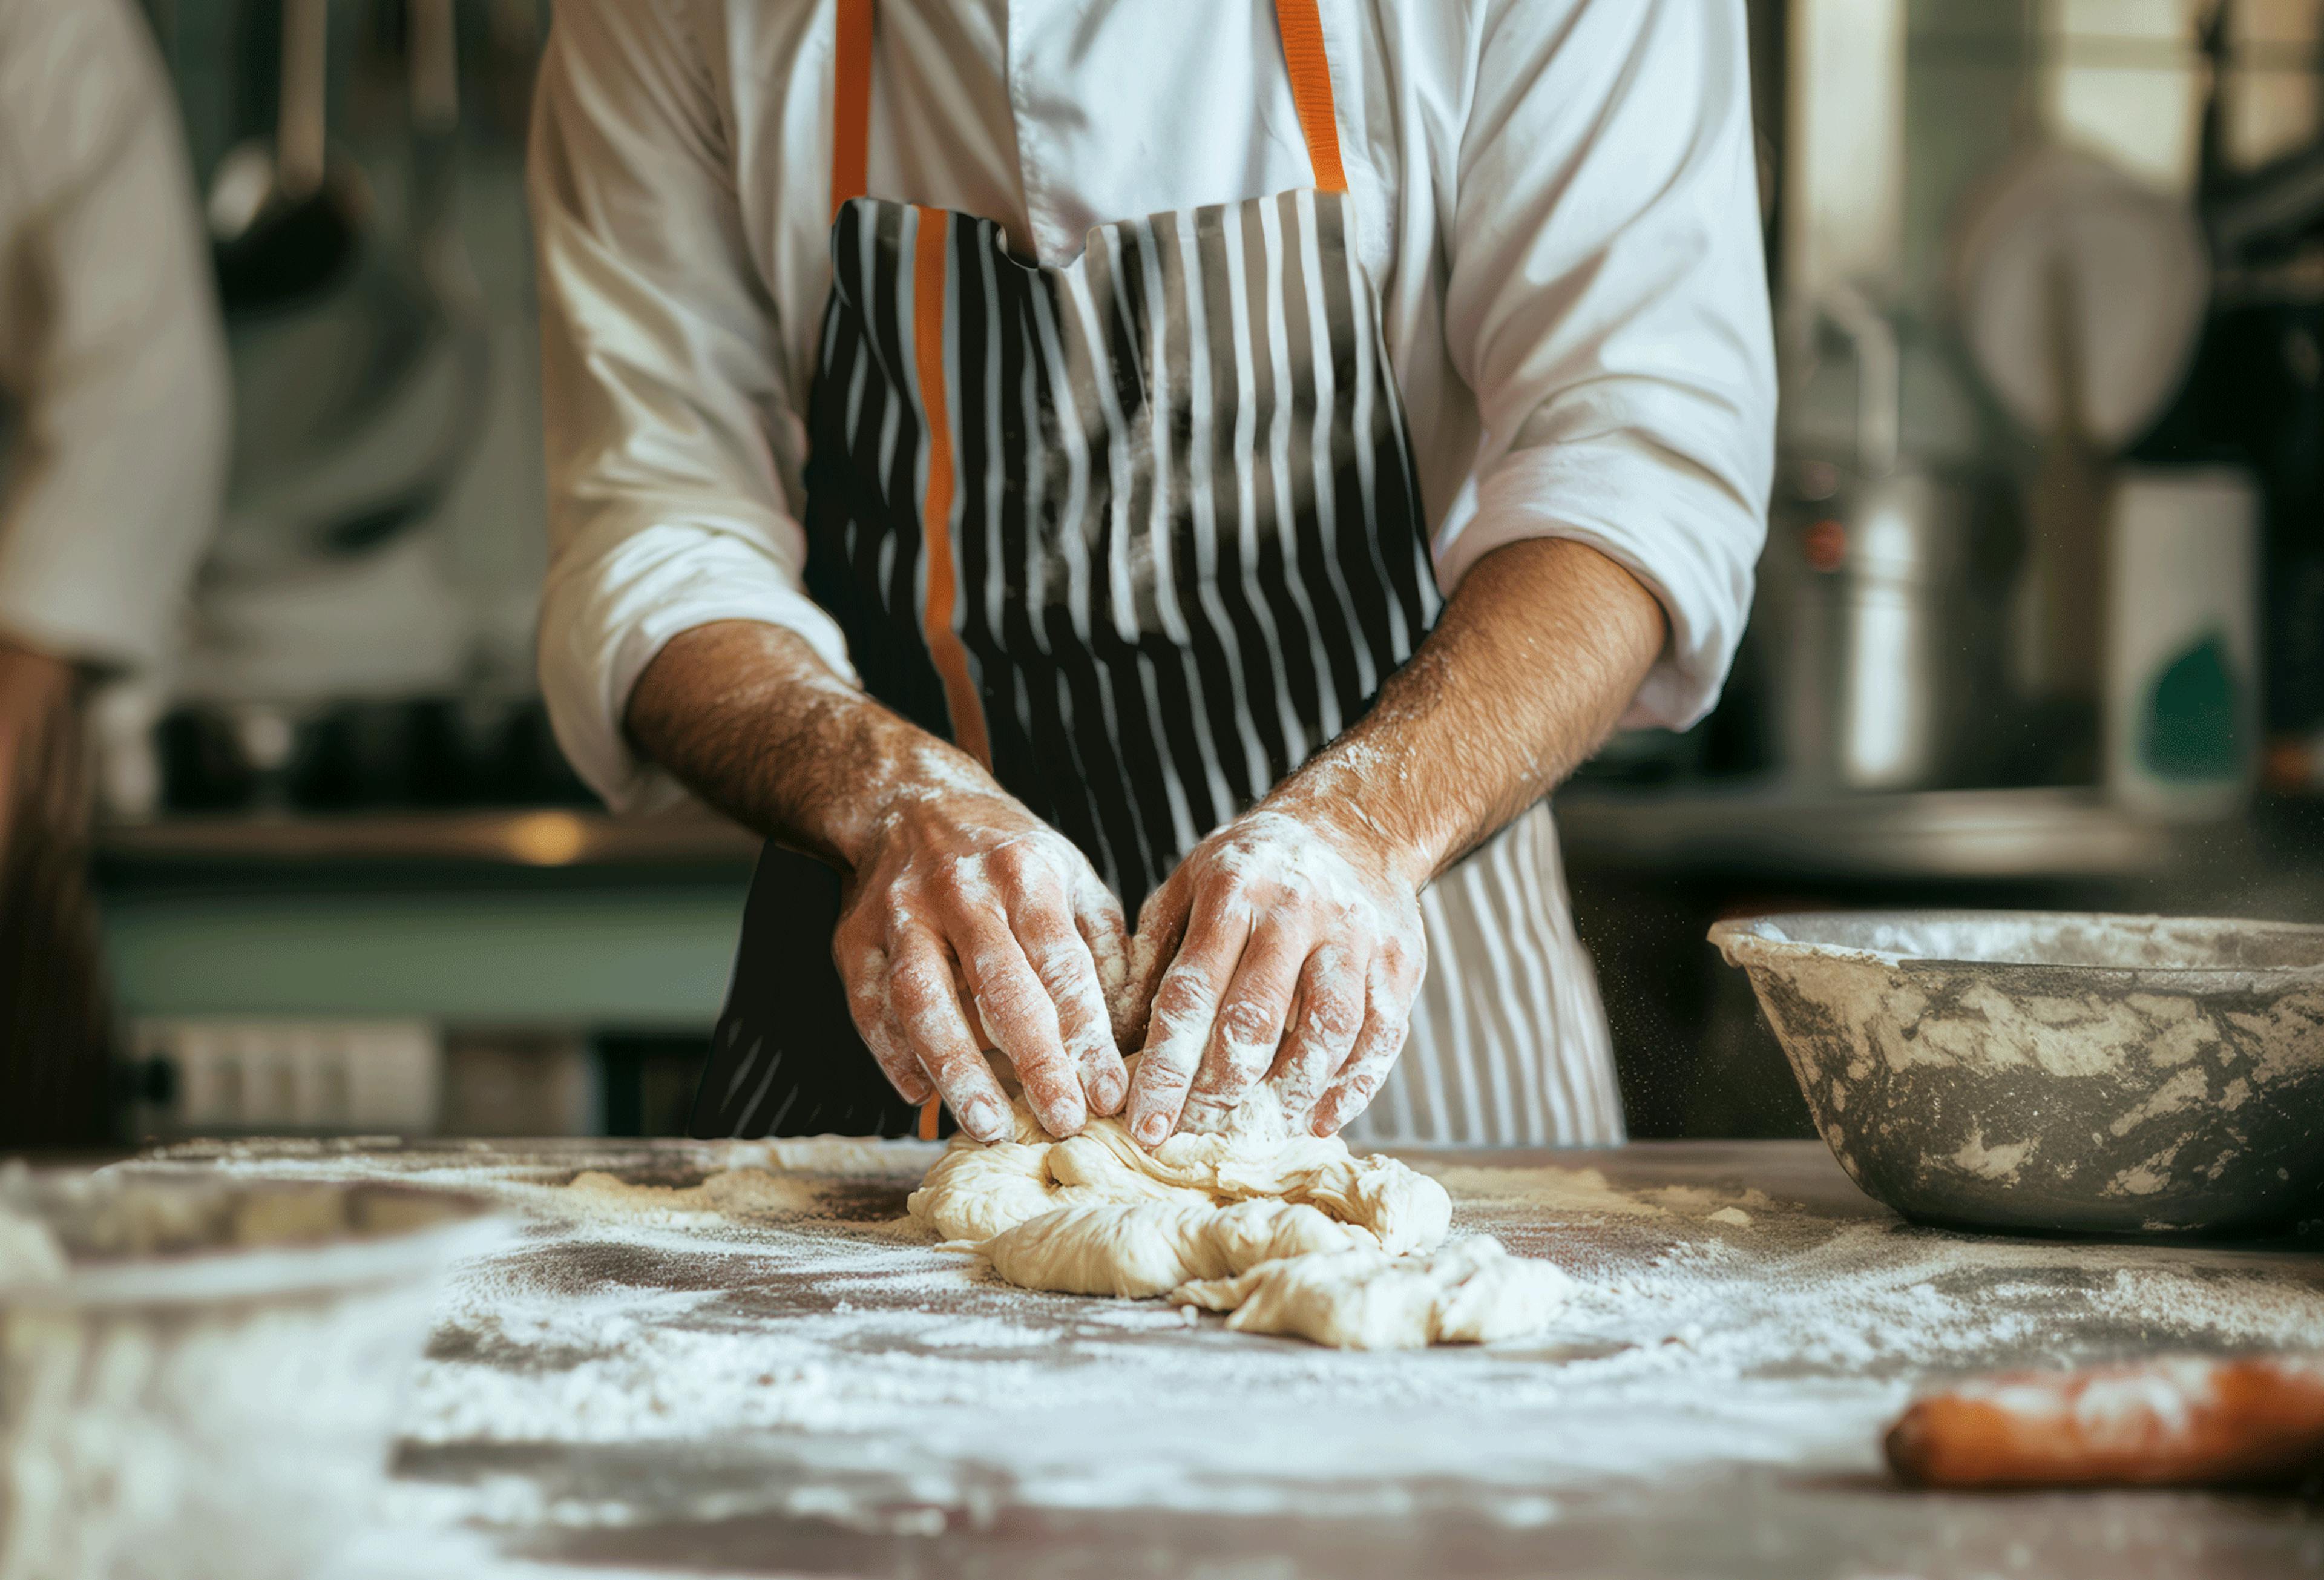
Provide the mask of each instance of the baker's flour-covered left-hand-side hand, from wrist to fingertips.
{"label": "baker's flour-covered left-hand-side hand, from wrist to fingertips", "polygon": [[1120,902],[1088,857],[960,767],[881,813],[832,934],[855,1029],[904,1101],[944,1092],[960,1127],[1006,1141],[999,1048],[1053,1136],[1122,1106],[1129,1076],[1106,1013],[1120,994]]}

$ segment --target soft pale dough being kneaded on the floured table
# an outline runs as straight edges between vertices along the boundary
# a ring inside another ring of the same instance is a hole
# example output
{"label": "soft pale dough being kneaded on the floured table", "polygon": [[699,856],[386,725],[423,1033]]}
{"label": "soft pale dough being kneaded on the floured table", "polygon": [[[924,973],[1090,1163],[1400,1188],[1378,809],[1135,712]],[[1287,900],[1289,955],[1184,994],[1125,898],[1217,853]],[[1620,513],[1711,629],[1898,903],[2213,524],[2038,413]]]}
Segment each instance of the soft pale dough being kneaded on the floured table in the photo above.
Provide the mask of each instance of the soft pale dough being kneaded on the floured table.
{"label": "soft pale dough being kneaded on the floured table", "polygon": [[1264,1092],[1225,1134],[1153,1152],[1113,1118],[1053,1141],[1018,1099],[1013,1141],[953,1136],[906,1206],[1027,1290],[1169,1294],[1232,1310],[1241,1331],[1341,1348],[1525,1334],[1571,1287],[1490,1236],[1420,1255],[1450,1227],[1446,1187],[1336,1136],[1287,1134]]}

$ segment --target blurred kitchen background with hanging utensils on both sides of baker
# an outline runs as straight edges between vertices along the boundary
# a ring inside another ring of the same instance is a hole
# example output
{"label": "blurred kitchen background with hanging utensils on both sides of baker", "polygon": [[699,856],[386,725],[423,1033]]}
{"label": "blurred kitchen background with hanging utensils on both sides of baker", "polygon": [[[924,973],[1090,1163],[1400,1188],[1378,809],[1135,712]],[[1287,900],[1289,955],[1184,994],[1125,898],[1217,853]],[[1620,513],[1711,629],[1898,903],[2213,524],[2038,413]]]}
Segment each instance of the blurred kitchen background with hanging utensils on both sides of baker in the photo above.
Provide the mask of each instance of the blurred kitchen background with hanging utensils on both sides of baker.
{"label": "blurred kitchen background with hanging utensils on both sides of baker", "polygon": [[[593,811],[532,688],[546,5],[146,9],[239,439],[184,665],[100,711],[125,1122],[674,1132],[753,843]],[[1752,35],[1759,616],[1710,720],[1559,797],[1638,1136],[1810,1134],[1717,915],[2324,920],[2324,2],[1755,0]],[[316,86],[339,207],[251,256]]]}

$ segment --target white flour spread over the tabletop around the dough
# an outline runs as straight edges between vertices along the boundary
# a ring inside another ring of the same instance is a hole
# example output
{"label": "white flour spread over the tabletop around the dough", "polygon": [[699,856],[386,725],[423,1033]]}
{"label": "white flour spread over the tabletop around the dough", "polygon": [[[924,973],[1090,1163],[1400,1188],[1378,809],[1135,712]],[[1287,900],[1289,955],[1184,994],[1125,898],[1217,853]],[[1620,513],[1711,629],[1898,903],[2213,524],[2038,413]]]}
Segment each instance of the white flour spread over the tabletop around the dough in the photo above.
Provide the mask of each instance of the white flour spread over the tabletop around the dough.
{"label": "white flour spread over the tabletop around the dough", "polygon": [[[995,1487],[1055,1508],[1329,1513],[1452,1482],[1480,1517],[1520,1520],[1673,1466],[1873,1473],[1880,1424],[1931,1373],[2324,1345],[2324,1280],[2266,1259],[1420,1157],[1455,1234],[1559,1264],[1573,1304],[1529,1341],[1334,1352],[1006,1287],[897,1227],[937,1148],[781,1146],[802,1166],[767,1143],[221,1162],[383,1173],[537,1215],[456,1276],[404,1420],[432,1487],[511,1524],[888,1520]],[[727,1471],[593,1468],[681,1441],[725,1445]]]}

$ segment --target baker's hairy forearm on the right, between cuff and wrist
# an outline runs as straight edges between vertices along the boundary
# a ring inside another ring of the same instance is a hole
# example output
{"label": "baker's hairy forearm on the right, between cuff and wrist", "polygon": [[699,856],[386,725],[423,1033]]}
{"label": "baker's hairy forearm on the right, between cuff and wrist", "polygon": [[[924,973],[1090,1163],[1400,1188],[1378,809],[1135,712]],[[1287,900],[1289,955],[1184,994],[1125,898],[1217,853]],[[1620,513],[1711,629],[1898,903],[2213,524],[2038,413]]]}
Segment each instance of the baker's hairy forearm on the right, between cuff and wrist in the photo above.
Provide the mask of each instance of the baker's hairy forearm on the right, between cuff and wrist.
{"label": "baker's hairy forearm on the right, between cuff and wrist", "polygon": [[1606,741],[1662,641],[1662,604],[1594,548],[1497,548],[1378,704],[1269,802],[1357,818],[1425,883]]}

